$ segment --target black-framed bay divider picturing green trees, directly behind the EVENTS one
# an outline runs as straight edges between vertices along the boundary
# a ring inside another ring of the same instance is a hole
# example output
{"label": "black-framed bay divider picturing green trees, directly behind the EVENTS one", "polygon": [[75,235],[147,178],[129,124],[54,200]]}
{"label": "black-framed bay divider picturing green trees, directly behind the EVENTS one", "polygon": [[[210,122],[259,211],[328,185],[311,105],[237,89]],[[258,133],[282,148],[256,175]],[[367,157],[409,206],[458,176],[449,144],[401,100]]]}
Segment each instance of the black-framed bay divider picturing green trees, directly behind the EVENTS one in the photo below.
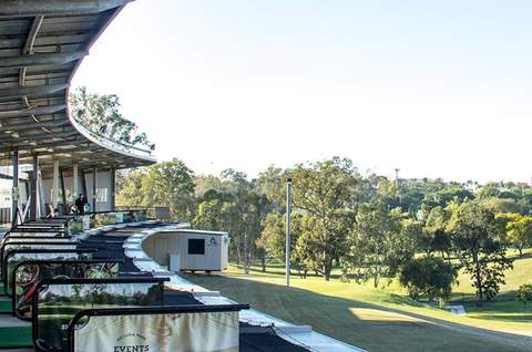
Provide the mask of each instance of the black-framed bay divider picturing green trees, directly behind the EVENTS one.
{"label": "black-framed bay divider picturing green trees, directly behind the EVENTS one", "polygon": [[168,279],[42,280],[32,298],[33,344],[39,351],[65,351],[69,324],[85,309],[163,306],[165,281]]}

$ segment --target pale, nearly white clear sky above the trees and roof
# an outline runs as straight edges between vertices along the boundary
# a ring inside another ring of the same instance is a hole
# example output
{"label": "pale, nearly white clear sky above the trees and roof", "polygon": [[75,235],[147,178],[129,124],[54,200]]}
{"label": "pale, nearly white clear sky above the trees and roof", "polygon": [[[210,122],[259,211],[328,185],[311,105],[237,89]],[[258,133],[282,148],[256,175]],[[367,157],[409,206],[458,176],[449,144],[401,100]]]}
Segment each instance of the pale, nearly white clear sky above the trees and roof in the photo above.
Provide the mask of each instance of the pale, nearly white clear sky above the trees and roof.
{"label": "pale, nearly white clear sky above the trees and roof", "polygon": [[74,85],[196,173],[332,155],[530,182],[532,1],[137,0]]}

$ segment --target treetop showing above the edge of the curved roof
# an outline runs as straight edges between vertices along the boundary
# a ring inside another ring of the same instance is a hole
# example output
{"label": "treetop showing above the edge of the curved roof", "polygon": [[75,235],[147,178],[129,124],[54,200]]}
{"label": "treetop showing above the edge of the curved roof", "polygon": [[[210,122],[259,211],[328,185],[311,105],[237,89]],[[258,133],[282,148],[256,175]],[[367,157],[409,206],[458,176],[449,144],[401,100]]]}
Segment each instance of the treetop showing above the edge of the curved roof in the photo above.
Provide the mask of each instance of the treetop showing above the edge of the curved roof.
{"label": "treetop showing above the edge of the curved roof", "polygon": [[145,146],[151,151],[155,148],[146,134],[139,132],[134,122],[122,116],[117,95],[89,93],[82,86],[71,92],[69,104],[71,116],[94,133],[130,145]]}

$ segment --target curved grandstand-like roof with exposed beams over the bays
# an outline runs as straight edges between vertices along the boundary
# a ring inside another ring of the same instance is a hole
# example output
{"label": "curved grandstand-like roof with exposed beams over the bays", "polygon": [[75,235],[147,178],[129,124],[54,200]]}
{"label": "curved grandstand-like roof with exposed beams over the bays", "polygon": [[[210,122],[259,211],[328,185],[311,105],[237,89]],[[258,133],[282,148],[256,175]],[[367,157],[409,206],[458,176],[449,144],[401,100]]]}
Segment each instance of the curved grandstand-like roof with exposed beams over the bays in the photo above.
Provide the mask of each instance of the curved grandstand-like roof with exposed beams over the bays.
{"label": "curved grandstand-like roof with exposed beams over the bays", "polygon": [[0,6],[0,159],[19,149],[82,168],[155,163],[147,149],[110,139],[78,124],[69,87],[83,58],[129,0],[2,0]]}

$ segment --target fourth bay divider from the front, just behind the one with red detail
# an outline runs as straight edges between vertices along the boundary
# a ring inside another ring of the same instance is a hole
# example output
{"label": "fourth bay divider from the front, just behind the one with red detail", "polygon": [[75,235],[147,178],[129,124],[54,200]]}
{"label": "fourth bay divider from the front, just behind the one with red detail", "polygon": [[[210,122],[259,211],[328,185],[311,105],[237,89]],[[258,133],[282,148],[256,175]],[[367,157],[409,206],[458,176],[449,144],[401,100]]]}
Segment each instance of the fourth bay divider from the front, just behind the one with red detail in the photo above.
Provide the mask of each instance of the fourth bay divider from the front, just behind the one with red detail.
{"label": "fourth bay divider from the front, just behind the one with red detail", "polygon": [[2,269],[6,272],[2,273],[3,288],[8,296],[11,296],[10,281],[14,266],[23,260],[65,260],[65,259],[92,259],[92,253],[95,252],[94,248],[84,249],[14,249],[6,253]]}

